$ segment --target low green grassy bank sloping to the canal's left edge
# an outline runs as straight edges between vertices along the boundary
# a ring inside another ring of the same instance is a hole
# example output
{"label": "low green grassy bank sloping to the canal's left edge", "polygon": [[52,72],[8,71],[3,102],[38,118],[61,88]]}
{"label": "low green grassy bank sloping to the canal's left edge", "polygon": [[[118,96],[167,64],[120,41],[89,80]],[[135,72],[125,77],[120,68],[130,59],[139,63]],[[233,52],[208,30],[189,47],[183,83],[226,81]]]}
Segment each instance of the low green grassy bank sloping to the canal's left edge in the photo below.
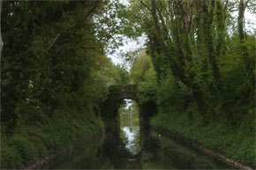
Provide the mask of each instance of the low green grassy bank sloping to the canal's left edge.
{"label": "low green grassy bank sloping to the canal's left edge", "polygon": [[1,168],[24,168],[86,141],[103,129],[103,122],[93,114],[71,115],[70,111],[56,110],[47,124],[19,126],[10,137],[2,134]]}

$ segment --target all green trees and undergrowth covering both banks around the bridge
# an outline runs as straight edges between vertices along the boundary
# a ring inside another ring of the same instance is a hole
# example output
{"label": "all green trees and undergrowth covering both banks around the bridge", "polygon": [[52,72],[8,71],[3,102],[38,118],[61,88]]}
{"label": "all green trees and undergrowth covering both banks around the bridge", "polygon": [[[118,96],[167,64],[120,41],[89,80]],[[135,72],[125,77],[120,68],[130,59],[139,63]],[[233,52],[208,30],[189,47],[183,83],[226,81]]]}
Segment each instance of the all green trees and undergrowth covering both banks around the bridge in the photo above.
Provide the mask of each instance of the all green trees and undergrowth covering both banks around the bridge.
{"label": "all green trees and undergrowth covering both banks around the bridge", "polygon": [[[100,133],[109,85],[126,84],[139,85],[144,112],[157,107],[154,127],[254,167],[256,39],[246,9],[256,13],[252,0],[4,1],[1,167]],[[120,35],[147,37],[124,55],[130,72],[106,57]]]}

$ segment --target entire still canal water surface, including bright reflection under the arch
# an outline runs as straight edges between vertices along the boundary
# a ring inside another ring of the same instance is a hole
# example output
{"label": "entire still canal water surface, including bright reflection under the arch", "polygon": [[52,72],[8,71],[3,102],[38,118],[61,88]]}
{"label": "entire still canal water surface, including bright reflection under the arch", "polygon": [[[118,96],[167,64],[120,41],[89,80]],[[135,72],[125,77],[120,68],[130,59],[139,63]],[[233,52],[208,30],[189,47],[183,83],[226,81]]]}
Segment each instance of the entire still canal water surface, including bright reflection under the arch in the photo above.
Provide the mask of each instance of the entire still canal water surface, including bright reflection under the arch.
{"label": "entire still canal water surface, including bright reflection under the arch", "polygon": [[139,116],[131,115],[129,110],[123,111],[119,134],[108,132],[43,168],[234,169],[152,129],[140,129]]}

